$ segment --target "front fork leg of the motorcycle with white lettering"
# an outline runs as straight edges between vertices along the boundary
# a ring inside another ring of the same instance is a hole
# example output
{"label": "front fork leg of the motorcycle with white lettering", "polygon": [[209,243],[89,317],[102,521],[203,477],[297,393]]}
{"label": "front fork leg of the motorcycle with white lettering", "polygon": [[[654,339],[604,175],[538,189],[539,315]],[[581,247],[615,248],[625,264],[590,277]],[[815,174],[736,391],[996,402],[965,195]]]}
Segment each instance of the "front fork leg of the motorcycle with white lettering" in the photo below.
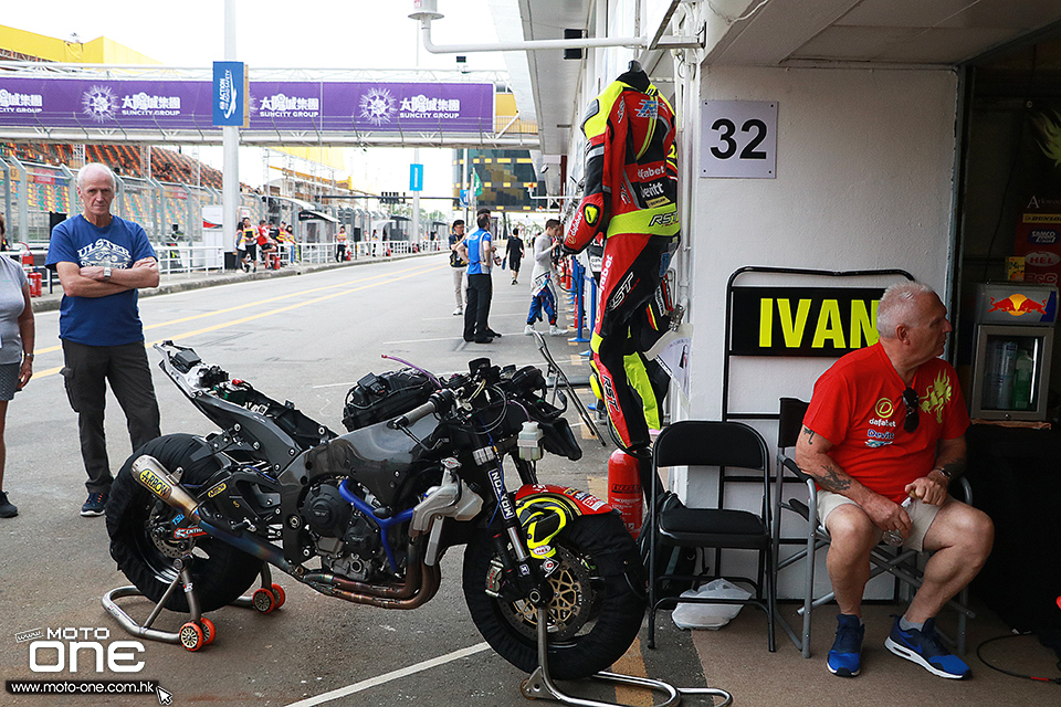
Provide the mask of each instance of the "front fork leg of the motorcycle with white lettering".
{"label": "front fork leg of the motorcycle with white lettering", "polygon": [[[512,494],[505,489],[505,476],[501,462],[486,472],[494,489],[497,509],[501,513],[501,532],[494,532],[500,566],[491,564],[486,593],[506,599],[526,599],[535,608],[547,606],[553,601],[553,590],[540,572],[537,562],[530,561],[523,526],[513,507]],[[510,550],[510,547],[512,548]]]}

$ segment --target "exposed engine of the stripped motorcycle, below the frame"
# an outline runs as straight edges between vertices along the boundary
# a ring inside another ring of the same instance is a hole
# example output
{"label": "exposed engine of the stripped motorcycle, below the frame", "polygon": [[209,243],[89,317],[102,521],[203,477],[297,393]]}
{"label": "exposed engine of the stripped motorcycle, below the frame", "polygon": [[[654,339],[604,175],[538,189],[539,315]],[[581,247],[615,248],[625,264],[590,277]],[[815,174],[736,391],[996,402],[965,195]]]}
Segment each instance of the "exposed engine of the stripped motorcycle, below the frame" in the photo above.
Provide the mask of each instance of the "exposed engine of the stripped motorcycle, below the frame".
{"label": "exposed engine of the stripped motorcycle, below the frame", "polygon": [[[358,582],[392,574],[379,526],[339,493],[339,481],[318,483],[302,506],[321,561],[330,571]],[[397,553],[396,553],[397,555]]]}

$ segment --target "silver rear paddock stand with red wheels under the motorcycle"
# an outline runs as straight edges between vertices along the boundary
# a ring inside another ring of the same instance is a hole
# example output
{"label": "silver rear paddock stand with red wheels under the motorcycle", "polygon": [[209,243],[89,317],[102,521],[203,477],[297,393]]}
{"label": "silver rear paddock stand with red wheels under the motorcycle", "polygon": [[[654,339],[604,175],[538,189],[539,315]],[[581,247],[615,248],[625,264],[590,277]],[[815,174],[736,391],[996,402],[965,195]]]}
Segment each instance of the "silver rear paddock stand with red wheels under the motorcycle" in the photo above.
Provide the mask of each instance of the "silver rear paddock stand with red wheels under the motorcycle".
{"label": "silver rear paddock stand with red wheels under the motorcycle", "polygon": [[[210,645],[217,637],[218,630],[213,625],[212,621],[202,615],[199,595],[196,594],[196,589],[192,584],[191,572],[186,567],[187,560],[187,556],[174,560],[174,569],[177,570],[177,577],[175,577],[174,581],[170,582],[169,587],[166,588],[166,591],[162,593],[162,598],[158,600],[158,602],[151,609],[151,613],[147,616],[147,620],[143,624],[137,623],[132,616],[129,616],[129,614],[118,606],[116,601],[127,597],[144,597],[144,592],[138,590],[136,587],[129,585],[112,589],[104,594],[103,599],[101,600],[103,602],[103,608],[107,610],[107,613],[117,620],[118,624],[120,624],[126,632],[134,636],[148,639],[149,641],[161,641],[162,643],[179,644],[188,651],[198,651],[203,646]],[[260,613],[267,614],[274,609],[280,609],[284,604],[284,601],[286,600],[284,590],[280,584],[272,583],[270,579],[269,564],[265,562],[262,562],[261,576],[261,588],[254,590],[254,593],[250,597],[240,597],[237,599],[234,602],[232,602],[233,606],[249,606],[253,608]],[[158,619],[158,615],[162,612],[162,608],[166,605],[166,602],[169,601],[169,598],[172,597],[174,592],[177,591],[178,585],[185,591],[185,597],[188,600],[189,613],[191,613],[191,620],[181,624],[180,629],[177,631],[160,631],[158,629],[151,629],[151,624],[154,624],[155,620]]]}

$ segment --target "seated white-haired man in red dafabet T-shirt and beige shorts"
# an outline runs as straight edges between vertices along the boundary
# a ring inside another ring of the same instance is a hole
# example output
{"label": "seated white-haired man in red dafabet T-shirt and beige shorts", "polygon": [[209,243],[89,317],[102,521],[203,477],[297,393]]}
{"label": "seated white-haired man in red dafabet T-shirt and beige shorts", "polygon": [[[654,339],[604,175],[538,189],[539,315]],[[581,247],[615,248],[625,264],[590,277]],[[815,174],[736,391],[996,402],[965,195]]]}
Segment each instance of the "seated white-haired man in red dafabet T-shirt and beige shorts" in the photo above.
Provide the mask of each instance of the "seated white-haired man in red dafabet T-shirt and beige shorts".
{"label": "seated white-haired man in red dafabet T-shirt and beige shorts", "polygon": [[828,667],[859,674],[870,550],[895,532],[904,547],[933,555],[884,645],[960,679],[969,667],[943,646],[934,616],[979,572],[995,528],[947,495],[965,468],[969,425],[957,374],[937,358],[950,331],[947,309],[928,286],[900,283],[881,297],[876,329],[878,344],[848,354],[815,383],[796,446],[796,462],[818,483],[818,517],[832,538],[827,567],[840,615]]}

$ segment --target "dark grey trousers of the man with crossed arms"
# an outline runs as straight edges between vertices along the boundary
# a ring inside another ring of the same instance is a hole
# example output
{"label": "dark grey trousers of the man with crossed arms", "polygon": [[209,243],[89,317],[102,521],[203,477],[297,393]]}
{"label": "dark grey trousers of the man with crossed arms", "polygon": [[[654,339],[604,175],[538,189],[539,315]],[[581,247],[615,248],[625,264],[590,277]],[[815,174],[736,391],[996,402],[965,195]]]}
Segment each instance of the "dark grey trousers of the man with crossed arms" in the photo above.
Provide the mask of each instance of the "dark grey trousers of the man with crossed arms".
{"label": "dark grey trousers of the man with crossed arms", "polygon": [[66,398],[77,413],[81,456],[85,463],[90,494],[111,490],[111,462],[103,413],[107,401],[107,382],[125,412],[129,440],[136,451],[160,435],[158,403],[148,367],[144,342],[122,346],[85,346],[63,340],[63,378]]}

